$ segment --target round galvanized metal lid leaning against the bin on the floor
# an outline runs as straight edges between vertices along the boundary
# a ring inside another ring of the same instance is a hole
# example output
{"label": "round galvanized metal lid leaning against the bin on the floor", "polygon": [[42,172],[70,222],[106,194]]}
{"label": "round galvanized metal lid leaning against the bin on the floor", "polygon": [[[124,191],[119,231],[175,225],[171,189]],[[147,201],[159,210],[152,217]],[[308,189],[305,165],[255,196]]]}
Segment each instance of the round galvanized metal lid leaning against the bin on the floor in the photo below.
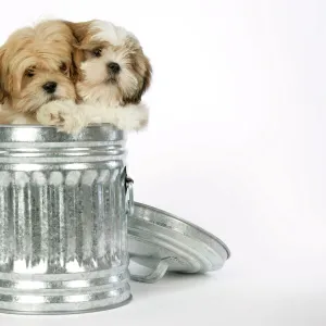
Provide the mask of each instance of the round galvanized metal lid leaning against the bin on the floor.
{"label": "round galvanized metal lid leaning against the bin on the floor", "polygon": [[224,242],[202,228],[137,202],[128,222],[128,248],[130,260],[149,269],[139,274],[131,265],[131,278],[145,283],[155,283],[166,272],[216,271],[230,255]]}

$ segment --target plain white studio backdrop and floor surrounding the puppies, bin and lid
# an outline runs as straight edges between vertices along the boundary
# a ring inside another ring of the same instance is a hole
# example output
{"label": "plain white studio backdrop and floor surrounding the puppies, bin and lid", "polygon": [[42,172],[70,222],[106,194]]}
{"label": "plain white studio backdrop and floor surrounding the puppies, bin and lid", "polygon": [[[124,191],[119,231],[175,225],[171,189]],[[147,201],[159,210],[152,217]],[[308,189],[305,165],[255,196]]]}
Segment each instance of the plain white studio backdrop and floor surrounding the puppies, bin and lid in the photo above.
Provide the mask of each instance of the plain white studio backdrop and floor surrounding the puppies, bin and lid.
{"label": "plain white studio backdrop and floor surrounding the puppies, bin and lid", "polygon": [[324,326],[326,2],[4,2],[1,42],[40,17],[138,36],[154,78],[150,127],[128,143],[136,200],[206,228],[233,256],[206,276],[133,283],[117,310],[1,325]]}

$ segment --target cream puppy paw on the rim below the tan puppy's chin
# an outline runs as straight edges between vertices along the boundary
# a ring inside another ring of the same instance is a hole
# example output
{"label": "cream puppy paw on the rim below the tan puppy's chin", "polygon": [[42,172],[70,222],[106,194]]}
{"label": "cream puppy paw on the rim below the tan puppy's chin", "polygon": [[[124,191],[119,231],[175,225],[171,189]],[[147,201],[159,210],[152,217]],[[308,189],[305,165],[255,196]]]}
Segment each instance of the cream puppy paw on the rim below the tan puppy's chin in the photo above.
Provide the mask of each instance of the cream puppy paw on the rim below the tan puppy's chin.
{"label": "cream puppy paw on the rim below the tan puppy's chin", "polygon": [[55,126],[59,131],[77,134],[84,127],[83,116],[73,101],[52,101],[40,108],[37,120],[46,126]]}

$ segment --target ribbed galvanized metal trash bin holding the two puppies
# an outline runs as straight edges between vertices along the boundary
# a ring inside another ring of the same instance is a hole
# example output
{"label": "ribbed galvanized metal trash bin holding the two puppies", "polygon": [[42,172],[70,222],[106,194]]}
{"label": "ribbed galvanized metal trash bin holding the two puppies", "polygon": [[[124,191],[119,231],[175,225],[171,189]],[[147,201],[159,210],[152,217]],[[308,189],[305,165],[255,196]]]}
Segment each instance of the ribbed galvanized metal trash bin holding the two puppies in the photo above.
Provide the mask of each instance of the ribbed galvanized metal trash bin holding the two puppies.
{"label": "ribbed galvanized metal trash bin holding the two puppies", "polygon": [[80,313],[130,300],[125,138],[0,126],[0,310]]}

